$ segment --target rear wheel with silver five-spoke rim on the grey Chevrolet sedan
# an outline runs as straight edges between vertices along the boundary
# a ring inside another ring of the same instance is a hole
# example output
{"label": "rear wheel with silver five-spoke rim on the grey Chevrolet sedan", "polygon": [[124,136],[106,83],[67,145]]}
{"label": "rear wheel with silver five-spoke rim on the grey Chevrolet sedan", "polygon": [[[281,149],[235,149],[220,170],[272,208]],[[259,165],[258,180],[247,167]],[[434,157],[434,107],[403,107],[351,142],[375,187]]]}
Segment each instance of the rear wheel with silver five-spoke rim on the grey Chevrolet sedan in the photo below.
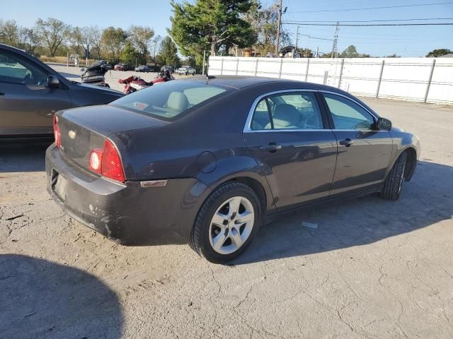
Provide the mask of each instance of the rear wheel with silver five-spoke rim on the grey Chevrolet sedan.
{"label": "rear wheel with silver five-spoke rim on the grey Chevrolet sedan", "polygon": [[190,247],[212,263],[227,263],[246,250],[258,232],[261,205],[245,184],[227,182],[203,203],[190,234]]}

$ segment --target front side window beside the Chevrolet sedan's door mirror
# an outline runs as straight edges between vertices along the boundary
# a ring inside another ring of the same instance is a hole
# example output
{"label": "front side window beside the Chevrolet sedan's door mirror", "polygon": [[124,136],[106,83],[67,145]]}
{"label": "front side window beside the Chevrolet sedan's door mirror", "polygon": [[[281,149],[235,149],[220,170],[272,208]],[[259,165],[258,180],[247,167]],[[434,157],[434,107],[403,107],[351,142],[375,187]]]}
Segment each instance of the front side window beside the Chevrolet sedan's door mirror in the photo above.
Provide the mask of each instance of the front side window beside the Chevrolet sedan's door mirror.
{"label": "front side window beside the Chevrolet sedan's door mirror", "polygon": [[374,119],[369,112],[355,102],[339,95],[324,93],[328,109],[331,111],[335,129],[374,129]]}

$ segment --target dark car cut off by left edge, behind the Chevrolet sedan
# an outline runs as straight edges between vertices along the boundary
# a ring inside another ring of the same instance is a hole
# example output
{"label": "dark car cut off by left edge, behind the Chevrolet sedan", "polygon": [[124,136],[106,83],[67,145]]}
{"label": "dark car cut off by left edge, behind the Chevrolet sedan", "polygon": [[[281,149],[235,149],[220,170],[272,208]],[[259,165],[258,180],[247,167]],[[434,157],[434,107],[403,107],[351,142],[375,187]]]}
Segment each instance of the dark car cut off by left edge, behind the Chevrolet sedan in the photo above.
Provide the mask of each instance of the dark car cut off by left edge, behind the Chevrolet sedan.
{"label": "dark car cut off by left edge, behind the Chevrolet sedan", "polygon": [[52,137],[60,109],[106,104],[123,95],[69,81],[30,54],[0,44],[0,138]]}

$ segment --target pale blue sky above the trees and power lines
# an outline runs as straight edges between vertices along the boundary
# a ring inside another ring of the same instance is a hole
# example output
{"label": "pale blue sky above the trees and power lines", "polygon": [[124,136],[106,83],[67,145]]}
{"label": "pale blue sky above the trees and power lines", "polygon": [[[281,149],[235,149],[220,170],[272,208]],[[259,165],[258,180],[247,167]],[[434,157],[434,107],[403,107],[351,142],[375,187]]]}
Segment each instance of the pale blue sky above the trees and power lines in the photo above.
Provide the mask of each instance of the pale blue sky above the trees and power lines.
{"label": "pale blue sky above the trees and power lines", "polygon": [[[453,23],[453,0],[282,0],[283,22],[288,21],[340,21],[346,20],[393,20],[413,18],[449,18],[432,20]],[[273,0],[262,0],[264,6],[273,4]],[[37,18],[54,17],[71,25],[98,25],[101,28],[113,25],[128,28],[131,24],[147,25],[156,34],[167,35],[170,27],[171,5],[169,0],[0,0],[0,18],[14,19],[19,25],[31,26]],[[444,4],[438,4],[444,3]],[[448,3],[448,4],[445,4]],[[19,6],[20,4],[20,6]],[[56,5],[58,4],[58,5]],[[432,6],[413,6],[414,4],[437,4]],[[412,5],[403,8],[380,8],[373,10],[350,11],[353,8]],[[349,11],[339,11],[349,9]],[[318,11],[314,13],[313,11]],[[322,12],[319,12],[322,11]],[[415,23],[416,21],[406,21]],[[420,21],[419,21],[420,22]],[[426,22],[426,21],[425,21]],[[284,24],[295,41],[297,25]],[[333,26],[299,27],[300,47],[309,47],[320,52],[330,52],[332,42],[306,37],[333,39]],[[403,27],[340,27],[338,50],[341,52],[350,44],[360,53],[382,57],[397,54],[401,57],[424,57],[432,49],[453,49],[453,25],[449,26],[403,26]]]}

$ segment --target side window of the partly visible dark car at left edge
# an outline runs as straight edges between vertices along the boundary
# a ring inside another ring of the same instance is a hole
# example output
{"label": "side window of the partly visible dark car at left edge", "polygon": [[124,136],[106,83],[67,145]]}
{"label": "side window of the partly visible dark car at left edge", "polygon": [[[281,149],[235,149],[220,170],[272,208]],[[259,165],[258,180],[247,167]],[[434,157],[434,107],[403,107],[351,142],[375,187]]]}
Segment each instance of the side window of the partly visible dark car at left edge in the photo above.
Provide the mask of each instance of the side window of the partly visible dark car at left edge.
{"label": "side window of the partly visible dark car at left edge", "polygon": [[13,53],[0,51],[0,81],[45,86],[47,74]]}

